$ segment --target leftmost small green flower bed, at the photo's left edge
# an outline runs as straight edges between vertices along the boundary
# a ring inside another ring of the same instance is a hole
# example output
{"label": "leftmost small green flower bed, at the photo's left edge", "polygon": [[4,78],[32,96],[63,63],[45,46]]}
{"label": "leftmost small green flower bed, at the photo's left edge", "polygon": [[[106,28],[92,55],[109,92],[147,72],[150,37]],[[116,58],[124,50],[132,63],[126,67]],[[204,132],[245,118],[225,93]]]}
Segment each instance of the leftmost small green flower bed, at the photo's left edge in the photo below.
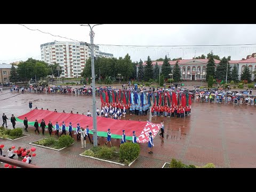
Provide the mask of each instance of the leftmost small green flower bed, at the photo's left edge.
{"label": "leftmost small green flower bed, at the photo's left edge", "polygon": [[5,129],[3,126],[0,127],[0,138],[8,140],[17,140],[23,137],[29,136],[28,134],[23,134],[21,128],[17,129]]}

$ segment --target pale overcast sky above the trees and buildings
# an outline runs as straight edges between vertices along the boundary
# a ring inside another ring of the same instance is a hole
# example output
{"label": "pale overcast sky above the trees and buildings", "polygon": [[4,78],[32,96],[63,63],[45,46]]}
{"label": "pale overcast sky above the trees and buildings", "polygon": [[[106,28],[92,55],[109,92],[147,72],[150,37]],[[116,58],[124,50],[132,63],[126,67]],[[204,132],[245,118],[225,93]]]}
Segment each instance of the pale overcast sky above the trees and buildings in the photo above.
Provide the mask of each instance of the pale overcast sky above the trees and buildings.
{"label": "pale overcast sky above the trees and buildings", "polygon": [[[39,29],[53,35],[59,35],[90,43],[90,28],[78,24],[28,24],[28,28]],[[18,24],[0,25],[0,63],[27,60],[32,57],[41,59],[40,45],[48,42],[69,41],[53,37],[39,31],[32,31]],[[256,25],[100,25],[93,28],[94,44],[111,45],[219,45],[256,43]],[[220,57],[231,55],[231,60],[240,60],[256,52],[256,45],[223,47],[118,47],[100,46],[100,51],[113,53],[114,57],[131,55],[133,61],[140,58],[145,61],[182,57],[192,59],[194,55],[207,54],[210,51]]]}

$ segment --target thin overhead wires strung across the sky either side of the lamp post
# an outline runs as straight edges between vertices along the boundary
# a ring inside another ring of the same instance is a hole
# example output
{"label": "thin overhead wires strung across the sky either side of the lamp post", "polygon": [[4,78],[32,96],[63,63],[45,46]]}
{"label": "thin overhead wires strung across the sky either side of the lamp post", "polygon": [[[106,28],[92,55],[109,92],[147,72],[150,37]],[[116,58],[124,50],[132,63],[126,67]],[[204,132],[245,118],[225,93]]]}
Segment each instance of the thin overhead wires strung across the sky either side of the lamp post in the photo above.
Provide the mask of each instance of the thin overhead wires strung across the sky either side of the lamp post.
{"label": "thin overhead wires strung across the sky either side of the lamp post", "polygon": [[[49,35],[54,36],[54,37],[65,38],[65,39],[69,39],[69,40],[75,41],[75,42],[82,42],[82,41],[78,41],[78,40],[75,40],[75,39],[71,39],[71,38],[67,38],[67,37],[62,37],[62,36],[59,36],[59,35],[53,35],[51,33],[44,32],[44,31],[39,30],[39,29],[30,29],[27,26],[22,25],[22,24],[18,24],[18,25],[21,25],[21,26],[26,27],[27,29],[33,30],[33,31],[38,30],[41,33],[49,34]],[[126,46],[126,47],[186,47],[186,46],[241,46],[241,45],[256,45],[256,44],[255,43],[251,43],[251,44],[222,44],[222,45],[112,45],[112,44],[95,44],[95,45],[101,45],[101,46]]]}

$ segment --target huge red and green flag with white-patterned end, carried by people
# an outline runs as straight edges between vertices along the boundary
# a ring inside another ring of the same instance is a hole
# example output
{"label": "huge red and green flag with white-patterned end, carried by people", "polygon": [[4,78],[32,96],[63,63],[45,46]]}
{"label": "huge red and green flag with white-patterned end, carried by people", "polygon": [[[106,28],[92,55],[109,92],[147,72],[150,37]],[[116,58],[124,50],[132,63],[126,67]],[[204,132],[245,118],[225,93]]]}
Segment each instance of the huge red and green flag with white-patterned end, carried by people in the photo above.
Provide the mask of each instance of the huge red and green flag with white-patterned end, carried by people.
{"label": "huge red and green flag with white-patterned end, carried by people", "polygon": [[[34,125],[35,119],[40,123],[44,119],[46,125],[49,121],[55,126],[55,122],[65,122],[68,130],[69,122],[72,123],[73,130],[76,130],[77,123],[81,127],[89,126],[89,132],[91,134],[93,127],[93,118],[87,117],[80,114],[67,114],[67,113],[56,113],[49,110],[38,110],[34,109],[29,111],[29,113],[19,116],[17,121],[22,122],[27,117],[28,124]],[[97,117],[97,131],[99,137],[107,137],[108,129],[111,130],[111,138],[122,139],[123,130],[125,130],[125,135],[127,140],[132,140],[133,131],[137,133],[137,142],[145,143],[148,142],[149,132],[153,133],[153,138],[157,135],[161,124],[154,124],[150,122],[139,122],[139,121],[128,121],[128,120],[116,120],[109,119],[105,117]]]}

